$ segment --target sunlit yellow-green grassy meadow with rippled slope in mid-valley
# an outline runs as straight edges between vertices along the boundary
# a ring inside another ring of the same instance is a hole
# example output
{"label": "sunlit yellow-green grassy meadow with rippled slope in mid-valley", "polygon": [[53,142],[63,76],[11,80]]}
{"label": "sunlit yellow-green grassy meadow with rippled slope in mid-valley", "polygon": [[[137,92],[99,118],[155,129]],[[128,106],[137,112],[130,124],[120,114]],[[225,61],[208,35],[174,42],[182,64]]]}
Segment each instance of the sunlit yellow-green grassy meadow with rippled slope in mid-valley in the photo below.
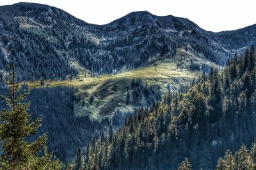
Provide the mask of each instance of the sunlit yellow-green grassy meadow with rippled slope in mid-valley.
{"label": "sunlit yellow-green grassy meadow with rippled slope in mid-valley", "polygon": [[[183,69],[177,67],[175,60],[183,59]],[[131,81],[133,79],[141,79],[147,85],[159,85],[162,94],[166,94],[167,85],[171,85],[172,91],[180,90],[180,87],[189,86],[194,78],[198,78],[199,71],[189,71],[190,60],[195,62],[209,62],[200,58],[196,58],[193,53],[186,52],[182,49],[177,50],[177,55],[173,59],[157,61],[156,64],[147,67],[141,67],[132,71],[119,74],[102,74],[100,77],[92,77],[85,73],[83,68],[80,69],[76,78],[72,80],[52,81],[46,80],[44,87],[74,87],[77,89],[76,96],[80,97],[80,101],[75,103],[75,114],[78,116],[88,115],[88,117],[96,120],[104,118],[112,118],[116,109],[127,112],[133,111],[134,108],[148,107],[147,103],[134,104],[132,97]],[[215,64],[209,62],[209,67],[216,67]],[[83,72],[86,74],[83,74]],[[41,82],[27,81],[26,84],[30,88],[41,87]],[[131,103],[125,104],[127,95],[127,87],[131,94]],[[93,103],[90,104],[90,97],[93,96]],[[83,105],[83,106],[82,106]]]}

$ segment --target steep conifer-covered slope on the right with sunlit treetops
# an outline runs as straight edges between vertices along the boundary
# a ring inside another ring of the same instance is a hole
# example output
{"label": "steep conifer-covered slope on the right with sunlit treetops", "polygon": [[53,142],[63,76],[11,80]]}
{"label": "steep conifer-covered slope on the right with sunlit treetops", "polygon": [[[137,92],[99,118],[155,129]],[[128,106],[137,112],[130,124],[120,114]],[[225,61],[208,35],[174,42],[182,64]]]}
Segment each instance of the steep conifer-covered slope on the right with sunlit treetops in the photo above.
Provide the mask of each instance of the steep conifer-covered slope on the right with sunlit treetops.
{"label": "steep conifer-covered slope on the right with sunlit treetops", "polygon": [[110,129],[108,138],[88,145],[84,168],[177,169],[186,157],[193,169],[214,169],[225,150],[255,139],[255,61],[252,46],[188,93],[141,108],[115,134]]}

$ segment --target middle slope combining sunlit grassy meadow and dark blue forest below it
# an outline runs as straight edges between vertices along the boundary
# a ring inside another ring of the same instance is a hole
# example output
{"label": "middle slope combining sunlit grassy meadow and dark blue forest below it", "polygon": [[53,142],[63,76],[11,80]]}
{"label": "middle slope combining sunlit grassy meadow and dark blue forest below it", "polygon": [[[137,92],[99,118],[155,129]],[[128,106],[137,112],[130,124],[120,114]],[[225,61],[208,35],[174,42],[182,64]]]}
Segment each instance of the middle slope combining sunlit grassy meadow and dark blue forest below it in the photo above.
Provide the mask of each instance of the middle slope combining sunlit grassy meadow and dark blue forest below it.
{"label": "middle slope combining sunlit grassy meadow and dark blue forest below it", "polygon": [[[77,148],[86,150],[86,144],[93,138],[108,132],[110,124],[115,128],[122,126],[125,117],[134,114],[134,108],[161,101],[168,92],[169,83],[173,91],[178,91],[190,85],[193,78],[198,78],[200,73],[189,71],[189,63],[191,59],[198,63],[204,60],[182,49],[175,57],[182,59],[183,70],[175,62],[180,59],[166,59],[154,66],[99,77],[90,76],[87,70],[79,67],[79,74],[72,80],[22,81],[20,85],[31,89],[29,109],[33,118],[43,118],[39,134],[49,134],[49,150],[54,150],[56,157],[66,163],[74,158]],[[0,94],[5,92],[3,78],[0,73]],[[126,102],[128,93],[129,103]],[[0,103],[2,108],[4,105]]]}

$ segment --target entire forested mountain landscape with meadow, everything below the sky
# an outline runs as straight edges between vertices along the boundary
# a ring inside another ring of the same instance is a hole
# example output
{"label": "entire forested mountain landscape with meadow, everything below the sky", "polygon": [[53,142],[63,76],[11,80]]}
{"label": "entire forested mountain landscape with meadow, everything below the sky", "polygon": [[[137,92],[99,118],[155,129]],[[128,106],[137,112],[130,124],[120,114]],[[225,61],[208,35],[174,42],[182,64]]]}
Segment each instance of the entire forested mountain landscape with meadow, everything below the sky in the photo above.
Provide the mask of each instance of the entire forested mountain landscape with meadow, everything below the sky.
{"label": "entire forested mountain landscape with meadow, everything below the sky", "polygon": [[0,6],[0,169],[255,170],[256,25]]}

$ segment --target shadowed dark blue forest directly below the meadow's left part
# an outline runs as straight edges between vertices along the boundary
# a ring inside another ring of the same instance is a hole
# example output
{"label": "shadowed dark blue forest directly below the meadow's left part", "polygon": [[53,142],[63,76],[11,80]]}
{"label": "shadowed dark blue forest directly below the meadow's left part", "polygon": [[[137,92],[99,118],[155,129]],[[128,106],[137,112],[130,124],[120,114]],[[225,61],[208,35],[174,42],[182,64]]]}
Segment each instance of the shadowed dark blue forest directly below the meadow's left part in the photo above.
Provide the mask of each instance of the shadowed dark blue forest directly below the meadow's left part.
{"label": "shadowed dark blue forest directly below the meadow's left part", "polygon": [[[28,87],[24,85],[22,89]],[[54,150],[54,154],[62,162],[70,162],[79,147],[85,151],[86,143],[100,136],[101,132],[108,131],[110,124],[109,120],[98,122],[88,117],[76,117],[74,92],[76,89],[72,87],[51,87],[32,89],[28,96],[32,118],[42,117],[42,127],[38,129],[38,135],[47,132],[48,149]],[[5,93],[5,89],[0,89],[0,94]],[[0,103],[0,110],[2,108],[4,104]]]}

